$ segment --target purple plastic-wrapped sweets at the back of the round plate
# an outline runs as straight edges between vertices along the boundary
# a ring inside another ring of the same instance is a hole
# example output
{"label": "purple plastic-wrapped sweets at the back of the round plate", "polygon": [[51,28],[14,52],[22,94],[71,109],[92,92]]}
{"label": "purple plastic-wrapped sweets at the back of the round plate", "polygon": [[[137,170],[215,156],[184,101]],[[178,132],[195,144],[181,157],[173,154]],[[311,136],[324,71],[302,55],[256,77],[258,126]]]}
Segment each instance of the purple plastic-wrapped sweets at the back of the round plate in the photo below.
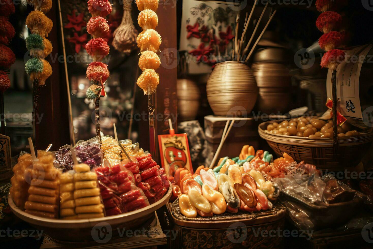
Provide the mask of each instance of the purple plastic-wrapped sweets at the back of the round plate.
{"label": "purple plastic-wrapped sweets at the back of the round plate", "polygon": [[[78,159],[78,163],[84,163],[92,169],[95,166],[100,166],[103,160],[103,152],[101,149],[100,138],[94,137],[88,141],[79,141],[73,148]],[[65,153],[63,153],[65,152]],[[73,169],[74,161],[72,159],[70,149],[67,150],[66,145],[59,148],[56,152],[57,168],[63,172]]]}

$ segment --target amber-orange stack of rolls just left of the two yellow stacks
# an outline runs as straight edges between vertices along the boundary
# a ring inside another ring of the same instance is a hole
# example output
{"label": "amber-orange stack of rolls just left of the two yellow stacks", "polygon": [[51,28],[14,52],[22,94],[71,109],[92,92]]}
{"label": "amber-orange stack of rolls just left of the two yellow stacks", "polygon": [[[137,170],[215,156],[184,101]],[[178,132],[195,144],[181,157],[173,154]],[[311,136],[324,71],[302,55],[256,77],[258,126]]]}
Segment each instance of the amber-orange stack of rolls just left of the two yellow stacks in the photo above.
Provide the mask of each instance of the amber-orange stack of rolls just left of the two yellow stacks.
{"label": "amber-orange stack of rolls just left of the two yellow stacks", "polygon": [[39,152],[31,172],[28,189],[27,213],[46,218],[58,218],[60,170],[54,168],[54,155],[51,152]]}

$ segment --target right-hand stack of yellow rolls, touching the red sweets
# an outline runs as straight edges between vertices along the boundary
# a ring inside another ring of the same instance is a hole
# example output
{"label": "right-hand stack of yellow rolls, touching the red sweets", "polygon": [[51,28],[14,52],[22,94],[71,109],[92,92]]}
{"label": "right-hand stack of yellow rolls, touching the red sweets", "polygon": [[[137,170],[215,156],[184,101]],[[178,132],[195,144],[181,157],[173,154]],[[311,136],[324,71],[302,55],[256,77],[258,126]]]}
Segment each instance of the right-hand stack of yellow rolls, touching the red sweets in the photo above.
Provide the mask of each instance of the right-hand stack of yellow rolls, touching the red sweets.
{"label": "right-hand stack of yellow rolls, touching the red sweets", "polygon": [[104,217],[97,176],[87,164],[74,166],[74,200],[78,219]]}

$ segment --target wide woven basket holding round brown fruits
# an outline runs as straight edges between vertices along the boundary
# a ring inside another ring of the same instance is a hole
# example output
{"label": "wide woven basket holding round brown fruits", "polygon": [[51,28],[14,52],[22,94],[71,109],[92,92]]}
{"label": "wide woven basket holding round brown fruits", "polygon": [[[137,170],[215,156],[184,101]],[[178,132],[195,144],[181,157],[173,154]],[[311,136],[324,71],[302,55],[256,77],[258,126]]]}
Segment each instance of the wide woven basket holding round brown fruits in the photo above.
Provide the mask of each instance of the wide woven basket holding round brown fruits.
{"label": "wide woven basket holding round brown fruits", "polygon": [[278,156],[282,156],[286,152],[295,161],[314,164],[320,170],[344,171],[357,166],[373,141],[373,133],[339,138],[339,148],[335,155],[332,138],[311,139],[264,131],[268,124],[282,121],[261,123],[258,127],[260,137],[267,141]]}

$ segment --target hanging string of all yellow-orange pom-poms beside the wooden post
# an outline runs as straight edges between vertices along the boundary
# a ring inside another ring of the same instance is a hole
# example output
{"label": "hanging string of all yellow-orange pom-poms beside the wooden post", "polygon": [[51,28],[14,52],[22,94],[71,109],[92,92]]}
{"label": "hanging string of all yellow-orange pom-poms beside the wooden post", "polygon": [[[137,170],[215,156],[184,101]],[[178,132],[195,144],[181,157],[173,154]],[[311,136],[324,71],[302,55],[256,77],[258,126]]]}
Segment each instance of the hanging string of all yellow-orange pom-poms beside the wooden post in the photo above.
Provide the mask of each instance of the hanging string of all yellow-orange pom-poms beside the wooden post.
{"label": "hanging string of all yellow-orange pom-poms beside the wooden post", "polygon": [[159,84],[159,75],[156,73],[160,66],[160,59],[156,52],[162,43],[161,37],[154,29],[158,25],[159,0],[137,0],[137,7],[141,11],[138,16],[138,24],[142,32],[137,37],[137,46],[141,50],[139,67],[143,71],[137,80],[137,85],[144,94],[151,95],[156,91]]}

